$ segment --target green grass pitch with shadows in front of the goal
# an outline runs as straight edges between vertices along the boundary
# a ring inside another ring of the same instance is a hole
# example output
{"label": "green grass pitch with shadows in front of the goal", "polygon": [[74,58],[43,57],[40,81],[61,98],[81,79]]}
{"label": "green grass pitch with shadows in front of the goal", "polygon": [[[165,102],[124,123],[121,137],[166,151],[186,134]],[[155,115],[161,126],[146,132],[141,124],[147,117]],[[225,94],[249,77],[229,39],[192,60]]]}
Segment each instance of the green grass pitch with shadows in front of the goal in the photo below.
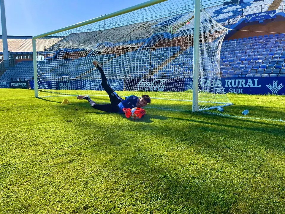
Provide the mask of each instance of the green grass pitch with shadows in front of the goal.
{"label": "green grass pitch with shadows in front of the goal", "polygon": [[0,213],[285,213],[285,96],[229,94],[228,116],[152,100],[130,121],[0,93]]}

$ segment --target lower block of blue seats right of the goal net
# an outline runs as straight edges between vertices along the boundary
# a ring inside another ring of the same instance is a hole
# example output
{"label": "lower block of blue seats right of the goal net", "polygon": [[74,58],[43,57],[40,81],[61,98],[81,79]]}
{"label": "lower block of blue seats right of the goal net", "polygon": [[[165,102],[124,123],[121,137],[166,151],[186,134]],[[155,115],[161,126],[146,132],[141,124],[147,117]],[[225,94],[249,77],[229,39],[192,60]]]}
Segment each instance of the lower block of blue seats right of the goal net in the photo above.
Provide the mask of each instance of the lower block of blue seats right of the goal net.
{"label": "lower block of blue seats right of the goal net", "polygon": [[[284,34],[270,34],[237,39],[235,41],[223,41],[220,53],[221,76],[230,75],[224,71],[224,67],[228,62],[233,65],[233,70],[238,70],[239,68],[242,74],[248,70],[252,74],[251,70],[257,70],[257,74],[274,74],[272,76],[279,76],[285,66],[284,46]],[[238,61],[234,62],[234,59],[238,59]]]}

